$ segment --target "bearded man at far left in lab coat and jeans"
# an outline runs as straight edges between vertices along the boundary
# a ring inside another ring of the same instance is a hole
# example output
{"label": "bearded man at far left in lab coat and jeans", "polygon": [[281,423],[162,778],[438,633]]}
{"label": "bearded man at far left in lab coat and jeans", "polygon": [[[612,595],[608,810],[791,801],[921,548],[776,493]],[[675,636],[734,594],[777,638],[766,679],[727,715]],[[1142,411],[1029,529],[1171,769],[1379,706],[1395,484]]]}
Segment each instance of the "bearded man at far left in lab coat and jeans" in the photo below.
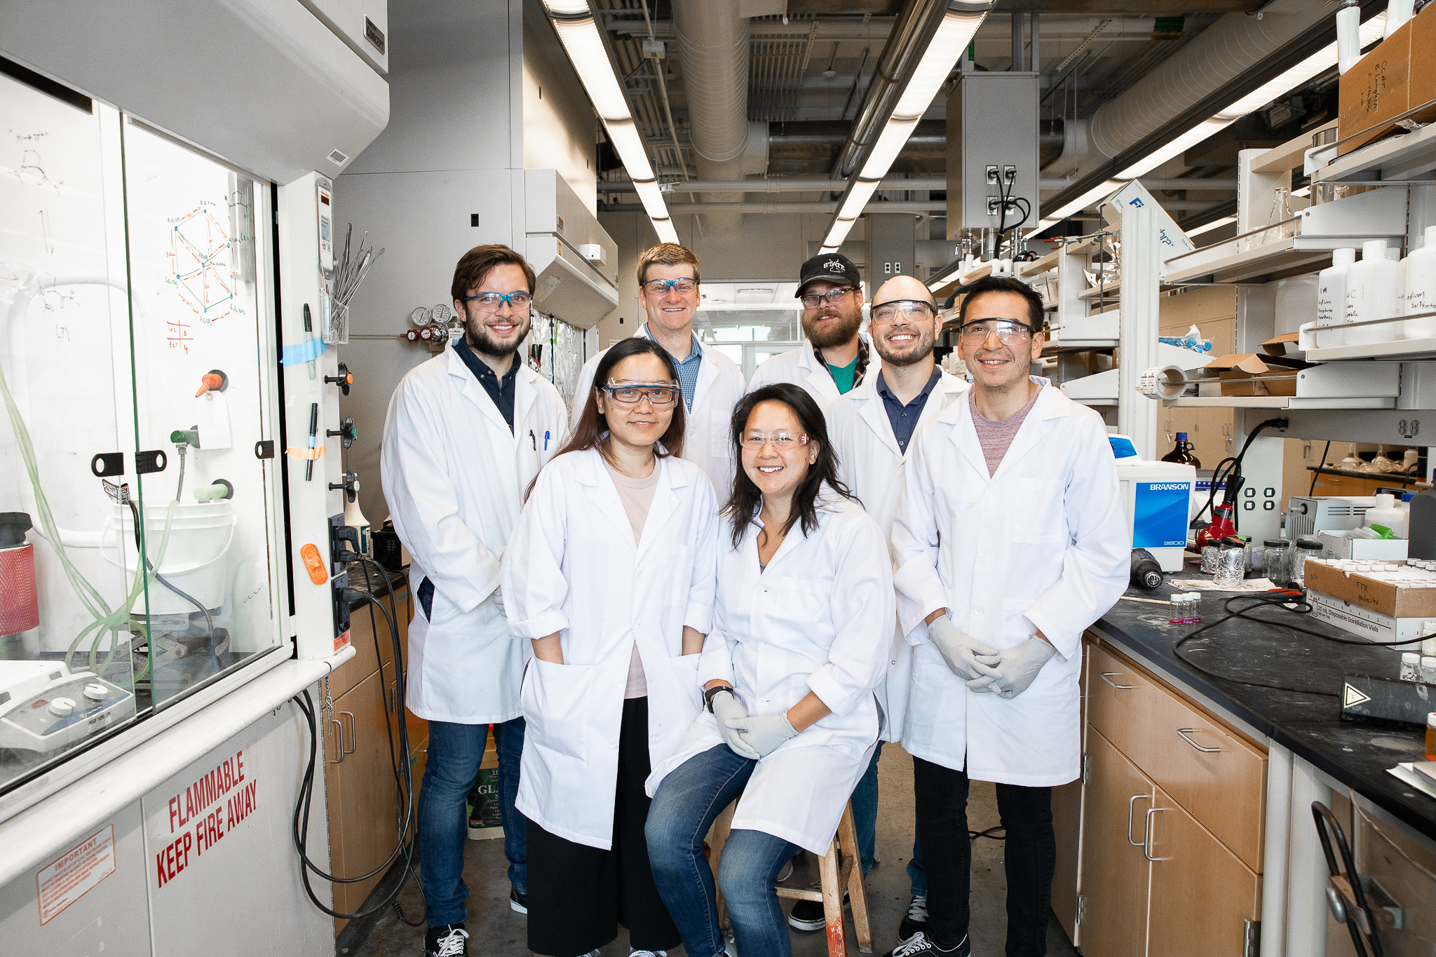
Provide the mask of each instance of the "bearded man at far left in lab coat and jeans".
{"label": "bearded man at far left in lab coat and jeans", "polygon": [[404,377],[389,402],[379,469],[393,528],[414,562],[408,704],[429,722],[419,795],[426,954],[464,954],[465,798],[488,726],[498,752],[510,905],[527,913],[524,819],[514,811],[528,643],[513,638],[498,567],[524,489],[569,422],[553,383],[517,354],[528,334],[534,271],[505,245],[481,245],[454,270],[465,331]]}

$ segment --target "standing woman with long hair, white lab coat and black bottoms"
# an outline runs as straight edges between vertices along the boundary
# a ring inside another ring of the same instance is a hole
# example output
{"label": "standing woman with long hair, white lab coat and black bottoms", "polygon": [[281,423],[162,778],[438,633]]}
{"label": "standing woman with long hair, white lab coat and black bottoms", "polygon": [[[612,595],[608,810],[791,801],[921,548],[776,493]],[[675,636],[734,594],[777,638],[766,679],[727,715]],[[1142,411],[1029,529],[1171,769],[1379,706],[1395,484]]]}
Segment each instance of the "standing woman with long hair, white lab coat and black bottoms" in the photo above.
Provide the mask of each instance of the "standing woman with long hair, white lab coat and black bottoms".
{"label": "standing woman with long hair, white lab coat and black bottoms", "polygon": [[528,818],[528,948],[638,953],[679,941],[653,885],[643,782],[702,706],[718,508],[678,458],[684,403],[662,346],[625,339],[504,552],[508,627],[533,641],[518,811]]}

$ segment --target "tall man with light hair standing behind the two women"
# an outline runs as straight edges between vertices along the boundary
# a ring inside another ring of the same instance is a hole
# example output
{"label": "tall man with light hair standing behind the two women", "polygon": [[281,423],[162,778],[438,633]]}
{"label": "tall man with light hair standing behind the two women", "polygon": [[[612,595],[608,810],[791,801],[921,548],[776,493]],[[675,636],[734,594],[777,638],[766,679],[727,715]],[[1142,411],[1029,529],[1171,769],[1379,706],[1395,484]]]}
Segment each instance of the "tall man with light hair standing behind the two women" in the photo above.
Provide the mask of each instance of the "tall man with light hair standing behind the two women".
{"label": "tall man with light hair standing behind the two women", "polygon": [[[682,458],[708,473],[721,505],[732,492],[728,416],[742,397],[742,370],[717,349],[704,349],[694,333],[699,281],[698,257],[686,247],[659,242],[646,250],[638,258],[638,288],[648,321],[633,334],[652,339],[673,357],[688,412]],[[589,399],[593,370],[602,357],[602,352],[592,356],[579,370],[579,382],[573,390],[574,422]]]}

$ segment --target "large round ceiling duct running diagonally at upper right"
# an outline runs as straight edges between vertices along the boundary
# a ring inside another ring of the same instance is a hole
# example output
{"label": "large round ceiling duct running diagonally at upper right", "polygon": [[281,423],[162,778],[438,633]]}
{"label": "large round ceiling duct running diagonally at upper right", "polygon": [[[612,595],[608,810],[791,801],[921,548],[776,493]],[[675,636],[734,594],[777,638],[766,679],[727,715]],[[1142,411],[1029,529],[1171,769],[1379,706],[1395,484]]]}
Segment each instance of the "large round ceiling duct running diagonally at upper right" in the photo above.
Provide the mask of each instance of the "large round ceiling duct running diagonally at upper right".
{"label": "large round ceiling duct running diagonally at upper right", "polygon": [[1259,66],[1318,20],[1320,0],[1274,0],[1258,14],[1228,13],[1087,122],[1067,123],[1048,174],[1080,176],[1160,129],[1223,85]]}

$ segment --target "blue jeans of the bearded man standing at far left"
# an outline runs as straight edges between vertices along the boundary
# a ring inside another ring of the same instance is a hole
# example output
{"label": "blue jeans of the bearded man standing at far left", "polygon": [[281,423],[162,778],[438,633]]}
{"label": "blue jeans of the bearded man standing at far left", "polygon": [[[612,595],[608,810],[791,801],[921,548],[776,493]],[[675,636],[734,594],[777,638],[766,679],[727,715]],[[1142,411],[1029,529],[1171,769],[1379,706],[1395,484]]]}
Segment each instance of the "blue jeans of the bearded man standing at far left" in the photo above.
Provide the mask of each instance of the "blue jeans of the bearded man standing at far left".
{"label": "blue jeans of the bearded man standing at far left", "polygon": [[[429,722],[429,759],[419,791],[419,877],[429,927],[468,920],[464,907],[468,900],[468,885],[464,884],[464,842],[468,839],[465,802],[487,742],[488,725]],[[508,881],[516,891],[527,894],[526,824],[514,809],[524,719],[494,725],[494,748],[498,750],[498,815],[504,825]]]}

